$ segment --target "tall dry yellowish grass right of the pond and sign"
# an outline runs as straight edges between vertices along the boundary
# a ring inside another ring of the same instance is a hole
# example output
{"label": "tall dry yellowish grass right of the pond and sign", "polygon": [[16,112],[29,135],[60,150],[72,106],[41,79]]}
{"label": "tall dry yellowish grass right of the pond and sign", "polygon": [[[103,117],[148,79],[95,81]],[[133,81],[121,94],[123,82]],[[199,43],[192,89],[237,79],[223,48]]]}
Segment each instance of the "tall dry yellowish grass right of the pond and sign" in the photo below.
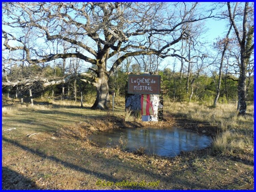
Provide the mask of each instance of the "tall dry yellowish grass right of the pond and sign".
{"label": "tall dry yellowish grass right of the pond and sign", "polygon": [[234,155],[253,151],[254,149],[254,105],[247,106],[250,116],[237,116],[236,104],[218,104],[211,108],[197,103],[166,103],[171,108],[167,109],[169,115],[187,120],[208,123],[218,127],[218,135],[213,139],[213,150],[218,154]]}

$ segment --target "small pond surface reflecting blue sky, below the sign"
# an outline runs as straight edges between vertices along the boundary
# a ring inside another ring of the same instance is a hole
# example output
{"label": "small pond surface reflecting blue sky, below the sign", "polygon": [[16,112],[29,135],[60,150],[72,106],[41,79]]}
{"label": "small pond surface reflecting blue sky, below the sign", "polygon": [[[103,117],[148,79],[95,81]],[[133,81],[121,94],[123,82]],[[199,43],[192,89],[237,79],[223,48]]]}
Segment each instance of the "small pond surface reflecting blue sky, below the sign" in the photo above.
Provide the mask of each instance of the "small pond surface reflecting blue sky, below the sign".
{"label": "small pond surface reflecting blue sky, below the sign", "polygon": [[92,135],[90,139],[101,145],[119,145],[121,135],[127,139],[126,149],[129,151],[143,147],[146,154],[166,157],[174,157],[181,151],[203,149],[211,144],[208,136],[176,127],[112,129]]}

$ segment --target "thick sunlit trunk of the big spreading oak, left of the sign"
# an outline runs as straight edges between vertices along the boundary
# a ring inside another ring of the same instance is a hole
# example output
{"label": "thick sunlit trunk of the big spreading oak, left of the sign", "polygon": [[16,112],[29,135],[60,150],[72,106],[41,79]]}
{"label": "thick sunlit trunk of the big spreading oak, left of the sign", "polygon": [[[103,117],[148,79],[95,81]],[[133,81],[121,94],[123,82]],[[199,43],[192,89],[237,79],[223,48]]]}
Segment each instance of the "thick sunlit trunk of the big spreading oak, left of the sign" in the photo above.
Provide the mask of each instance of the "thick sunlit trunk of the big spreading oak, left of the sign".
{"label": "thick sunlit trunk of the big spreading oak, left of the sign", "polygon": [[103,76],[94,85],[96,87],[97,97],[91,109],[109,109],[110,99],[108,77]]}

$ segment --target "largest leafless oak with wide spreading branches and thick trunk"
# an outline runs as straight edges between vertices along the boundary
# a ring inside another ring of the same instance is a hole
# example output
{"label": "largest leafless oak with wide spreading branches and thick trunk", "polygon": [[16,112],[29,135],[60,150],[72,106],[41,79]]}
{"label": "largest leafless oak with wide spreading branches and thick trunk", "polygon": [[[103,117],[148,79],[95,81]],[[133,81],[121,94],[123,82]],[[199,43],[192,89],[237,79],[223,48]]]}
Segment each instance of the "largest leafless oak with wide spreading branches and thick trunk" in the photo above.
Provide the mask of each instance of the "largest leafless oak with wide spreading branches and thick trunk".
{"label": "largest leafless oak with wide spreading branches and thick trunk", "polygon": [[[67,74],[62,80],[49,82],[44,78],[40,81],[48,86],[66,83],[74,76],[87,77],[82,80],[97,90],[92,108],[107,109],[110,104],[108,79],[126,58],[138,55],[183,58],[175,53],[173,46],[188,38],[189,24],[213,17],[212,10],[199,10],[198,5],[160,2],[3,3],[4,50],[24,50],[25,60],[30,65],[79,58],[84,64],[96,66],[94,74]],[[10,30],[14,28],[34,31],[38,43],[42,44],[41,49],[39,45],[28,47]],[[47,42],[57,40],[69,45],[67,52],[51,51]],[[155,46],[156,40],[160,47]],[[108,69],[108,61],[115,55],[118,55],[117,59]],[[22,58],[12,60],[24,61]]]}

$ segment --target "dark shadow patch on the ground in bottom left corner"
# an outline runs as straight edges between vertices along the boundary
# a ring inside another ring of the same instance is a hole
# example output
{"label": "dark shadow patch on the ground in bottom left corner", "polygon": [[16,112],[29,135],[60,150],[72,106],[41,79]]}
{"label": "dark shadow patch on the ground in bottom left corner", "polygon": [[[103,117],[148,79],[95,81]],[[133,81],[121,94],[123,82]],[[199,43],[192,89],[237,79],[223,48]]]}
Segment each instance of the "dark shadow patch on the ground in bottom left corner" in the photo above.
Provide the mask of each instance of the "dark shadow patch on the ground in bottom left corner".
{"label": "dark shadow patch on the ground in bottom left corner", "polygon": [[2,167],[2,190],[17,190],[17,189],[40,189],[35,182],[24,177],[23,175]]}

